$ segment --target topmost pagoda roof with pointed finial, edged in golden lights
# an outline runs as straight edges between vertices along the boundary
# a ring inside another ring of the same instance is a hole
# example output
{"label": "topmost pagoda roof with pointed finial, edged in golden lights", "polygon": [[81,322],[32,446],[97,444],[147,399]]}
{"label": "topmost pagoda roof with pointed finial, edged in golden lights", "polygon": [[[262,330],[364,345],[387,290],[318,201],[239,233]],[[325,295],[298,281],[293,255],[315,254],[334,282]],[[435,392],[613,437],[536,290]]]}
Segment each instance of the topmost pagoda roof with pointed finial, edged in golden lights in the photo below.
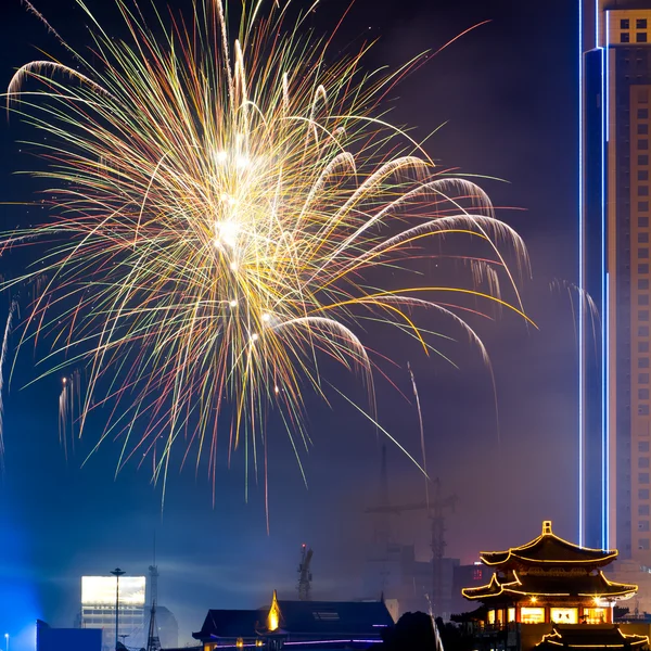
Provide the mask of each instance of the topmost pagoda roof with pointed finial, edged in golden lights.
{"label": "topmost pagoda roof with pointed finial, edged in golden lights", "polygon": [[482,551],[480,558],[486,565],[556,564],[556,565],[605,565],[617,557],[617,550],[580,547],[557,536],[551,521],[542,523],[542,533],[526,545],[505,551]]}

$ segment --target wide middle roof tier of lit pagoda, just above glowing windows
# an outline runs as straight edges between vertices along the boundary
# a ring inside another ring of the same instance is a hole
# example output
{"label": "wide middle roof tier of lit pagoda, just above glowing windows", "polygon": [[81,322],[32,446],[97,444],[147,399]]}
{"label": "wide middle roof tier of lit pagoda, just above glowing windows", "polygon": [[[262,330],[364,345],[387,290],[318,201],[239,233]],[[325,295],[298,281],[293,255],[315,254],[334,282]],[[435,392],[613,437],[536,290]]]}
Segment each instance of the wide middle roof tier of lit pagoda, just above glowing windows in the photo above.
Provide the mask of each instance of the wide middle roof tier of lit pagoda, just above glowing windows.
{"label": "wide middle roof tier of lit pagoda, just above glowing windows", "polygon": [[522,597],[592,597],[617,598],[634,595],[638,587],[629,584],[618,584],[609,580],[603,572],[597,574],[554,575],[518,574],[510,572],[500,578],[494,574],[490,583],[476,588],[461,590],[467,599],[487,600],[495,597],[511,597],[515,600]]}

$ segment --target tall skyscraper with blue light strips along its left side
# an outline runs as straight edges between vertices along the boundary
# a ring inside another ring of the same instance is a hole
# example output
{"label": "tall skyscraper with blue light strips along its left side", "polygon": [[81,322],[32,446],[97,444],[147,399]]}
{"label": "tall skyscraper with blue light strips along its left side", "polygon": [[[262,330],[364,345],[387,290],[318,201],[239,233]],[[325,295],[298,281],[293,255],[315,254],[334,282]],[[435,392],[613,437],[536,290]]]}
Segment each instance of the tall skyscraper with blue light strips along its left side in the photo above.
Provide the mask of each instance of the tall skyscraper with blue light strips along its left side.
{"label": "tall skyscraper with blue light strips along its left side", "polygon": [[651,0],[579,0],[579,539],[651,566]]}

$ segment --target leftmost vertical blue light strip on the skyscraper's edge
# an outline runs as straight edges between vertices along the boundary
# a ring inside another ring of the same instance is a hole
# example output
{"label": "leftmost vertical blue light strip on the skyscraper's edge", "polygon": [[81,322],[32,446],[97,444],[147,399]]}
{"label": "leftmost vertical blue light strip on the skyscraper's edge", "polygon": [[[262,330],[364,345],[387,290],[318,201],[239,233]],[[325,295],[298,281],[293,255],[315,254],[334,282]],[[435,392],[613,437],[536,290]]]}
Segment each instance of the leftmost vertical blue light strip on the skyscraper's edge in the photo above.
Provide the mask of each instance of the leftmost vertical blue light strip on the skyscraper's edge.
{"label": "leftmost vertical blue light strip on the skyscraper's edge", "polygon": [[584,544],[584,72],[583,72],[583,1],[578,0],[578,544]]}

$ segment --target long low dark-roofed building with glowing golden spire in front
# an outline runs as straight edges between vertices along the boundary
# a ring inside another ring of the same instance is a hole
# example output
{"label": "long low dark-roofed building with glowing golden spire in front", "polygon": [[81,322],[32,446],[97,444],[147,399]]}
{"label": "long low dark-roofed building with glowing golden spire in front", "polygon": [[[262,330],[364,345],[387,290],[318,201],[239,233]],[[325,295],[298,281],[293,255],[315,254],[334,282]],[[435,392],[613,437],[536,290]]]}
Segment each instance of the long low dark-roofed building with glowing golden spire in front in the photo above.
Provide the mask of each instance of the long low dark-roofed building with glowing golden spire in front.
{"label": "long low dark-roofed building with glowing golden spire in front", "polygon": [[251,611],[210,610],[192,637],[203,651],[221,648],[369,649],[394,624],[383,601],[284,601]]}

